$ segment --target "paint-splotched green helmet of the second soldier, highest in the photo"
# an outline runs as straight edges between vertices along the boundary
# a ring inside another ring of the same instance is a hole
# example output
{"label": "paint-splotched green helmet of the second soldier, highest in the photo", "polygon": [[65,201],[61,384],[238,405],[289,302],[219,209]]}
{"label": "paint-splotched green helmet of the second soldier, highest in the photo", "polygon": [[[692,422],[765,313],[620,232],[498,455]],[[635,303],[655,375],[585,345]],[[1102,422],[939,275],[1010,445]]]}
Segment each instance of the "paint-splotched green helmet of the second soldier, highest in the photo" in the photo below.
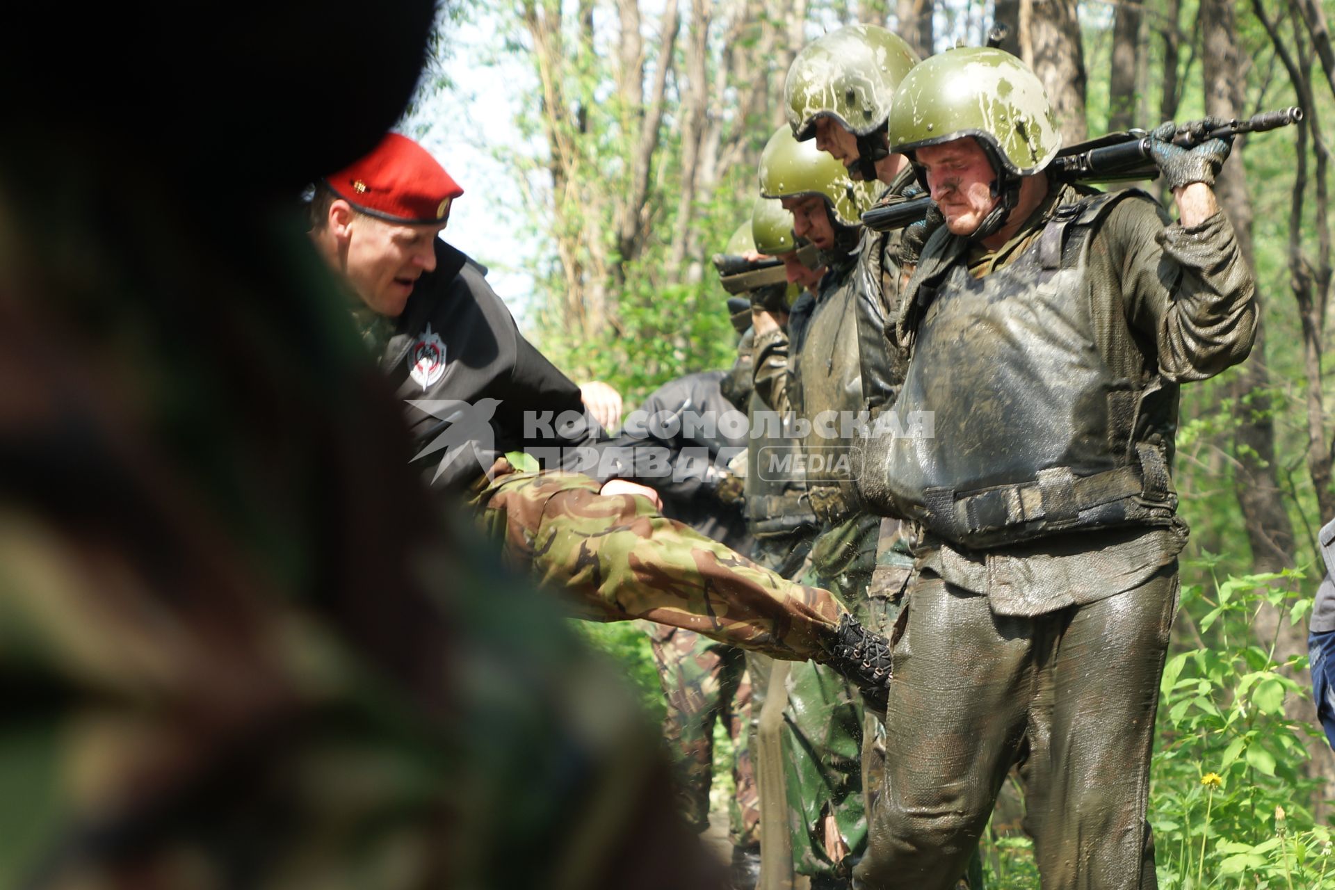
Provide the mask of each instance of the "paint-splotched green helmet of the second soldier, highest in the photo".
{"label": "paint-splotched green helmet of the second soldier, highest in the photo", "polygon": [[784,80],[793,136],[812,139],[817,117],[833,117],[858,136],[880,129],[917,60],[898,35],[878,25],[849,25],[806,44]]}

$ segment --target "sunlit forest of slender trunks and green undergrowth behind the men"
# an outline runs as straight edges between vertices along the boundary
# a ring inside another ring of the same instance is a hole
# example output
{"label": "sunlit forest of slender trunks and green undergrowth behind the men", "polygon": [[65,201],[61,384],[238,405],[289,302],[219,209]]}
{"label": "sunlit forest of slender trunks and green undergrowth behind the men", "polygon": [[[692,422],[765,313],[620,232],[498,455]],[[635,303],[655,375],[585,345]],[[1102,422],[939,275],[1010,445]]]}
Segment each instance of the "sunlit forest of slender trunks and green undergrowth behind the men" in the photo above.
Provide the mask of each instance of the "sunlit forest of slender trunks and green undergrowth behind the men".
{"label": "sunlit forest of slender trunks and green undergrowth behind the men", "polygon": [[[505,188],[483,183],[466,199],[518,195],[495,212],[525,248],[481,259],[519,267],[507,280],[531,282],[527,334],[629,407],[732,363],[708,259],[749,216],[793,55],[825,31],[885,24],[926,56],[981,45],[1007,23],[1003,45],[1044,80],[1068,143],[1303,107],[1302,125],[1239,139],[1218,184],[1264,318],[1243,366],[1183,390],[1175,476],[1192,535],[1149,810],[1163,887],[1335,886],[1335,755],[1314,726],[1306,646],[1323,571],[1316,530],[1335,518],[1331,15],[1320,0],[457,0],[405,125],[422,136],[437,125],[422,112],[441,107],[467,119],[451,33],[481,23],[495,69],[526,75],[513,85],[518,139],[487,148]],[[1143,187],[1164,197],[1159,183]],[[661,711],[642,635],[607,626],[590,636]],[[1037,886],[1027,845],[993,821],[989,886]]]}

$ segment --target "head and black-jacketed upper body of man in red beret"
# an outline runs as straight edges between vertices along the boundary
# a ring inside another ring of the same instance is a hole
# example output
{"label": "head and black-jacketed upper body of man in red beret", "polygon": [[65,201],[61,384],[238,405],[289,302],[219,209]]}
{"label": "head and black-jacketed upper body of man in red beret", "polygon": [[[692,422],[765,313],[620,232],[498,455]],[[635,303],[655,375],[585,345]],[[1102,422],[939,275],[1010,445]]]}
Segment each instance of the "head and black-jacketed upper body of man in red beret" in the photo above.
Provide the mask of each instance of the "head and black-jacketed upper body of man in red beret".
{"label": "head and black-jacketed upper body of man in red beret", "polygon": [[[311,201],[311,235],[352,286],[352,315],[410,406],[433,487],[458,494],[506,452],[546,448],[569,468],[602,435],[587,396],[519,334],[486,270],[439,239],[462,193],[425,148],[390,133]],[[631,494],[657,502],[643,486]]]}

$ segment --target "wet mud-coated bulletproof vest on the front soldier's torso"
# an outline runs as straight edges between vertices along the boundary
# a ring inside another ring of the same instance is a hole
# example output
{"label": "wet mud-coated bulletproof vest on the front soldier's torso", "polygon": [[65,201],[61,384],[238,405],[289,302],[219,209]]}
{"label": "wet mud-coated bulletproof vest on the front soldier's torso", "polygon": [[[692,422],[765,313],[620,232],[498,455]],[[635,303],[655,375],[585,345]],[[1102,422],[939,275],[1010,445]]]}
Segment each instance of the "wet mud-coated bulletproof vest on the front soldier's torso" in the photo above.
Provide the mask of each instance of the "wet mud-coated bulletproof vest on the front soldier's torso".
{"label": "wet mud-coated bulletproof vest on the front soldier's torso", "polygon": [[957,259],[910,283],[905,299],[925,310],[896,403],[902,435],[877,442],[894,512],[968,547],[1172,522],[1165,446],[1144,416],[1176,387],[1117,376],[1096,334],[1127,330],[1120,304],[1093,304],[1088,258],[1097,221],[1129,193],[1059,207],[981,279]]}

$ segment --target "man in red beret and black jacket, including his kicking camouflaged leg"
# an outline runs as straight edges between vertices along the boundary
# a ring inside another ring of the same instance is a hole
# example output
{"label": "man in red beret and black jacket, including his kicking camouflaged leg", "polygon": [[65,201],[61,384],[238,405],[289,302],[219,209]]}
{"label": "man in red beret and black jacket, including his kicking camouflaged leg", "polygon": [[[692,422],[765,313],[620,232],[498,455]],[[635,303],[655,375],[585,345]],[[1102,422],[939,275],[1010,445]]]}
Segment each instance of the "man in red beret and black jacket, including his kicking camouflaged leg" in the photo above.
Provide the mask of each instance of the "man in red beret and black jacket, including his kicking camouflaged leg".
{"label": "man in red beret and black jacket, including his kicking camouflaged leg", "polygon": [[546,450],[562,463],[590,434],[578,387],[519,335],[483,270],[438,238],[461,193],[426,149],[391,133],[323,179],[310,205],[310,236],[348,283],[354,311],[370,312],[368,339],[382,344],[382,371],[409,403],[433,484],[447,496],[471,492],[479,523],[543,583],[570,592],[585,618],[647,618],[778,658],[838,663],[876,694],[884,678],[861,664],[868,640],[881,640],[826,591],[663,518],[642,486],[614,479],[605,488],[579,474],[491,462]]}

